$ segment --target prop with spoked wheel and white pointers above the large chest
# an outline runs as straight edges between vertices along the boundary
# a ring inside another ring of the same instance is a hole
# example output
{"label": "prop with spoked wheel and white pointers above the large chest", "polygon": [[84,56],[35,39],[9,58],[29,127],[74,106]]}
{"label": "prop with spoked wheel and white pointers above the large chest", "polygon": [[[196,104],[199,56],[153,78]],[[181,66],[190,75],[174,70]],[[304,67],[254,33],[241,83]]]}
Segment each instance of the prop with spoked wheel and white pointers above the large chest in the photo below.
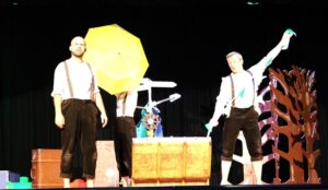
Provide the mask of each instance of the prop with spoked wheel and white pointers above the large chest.
{"label": "prop with spoked wheel and white pointers above the large chest", "polygon": [[159,104],[165,102],[175,102],[181,96],[177,93],[169,95],[162,100],[152,100],[152,87],[175,87],[175,82],[169,81],[151,81],[150,79],[143,79],[138,91],[148,91],[148,104],[144,107],[138,106],[141,110],[141,119],[137,123],[137,138],[162,138],[163,126],[161,123],[162,118],[160,116],[160,109],[156,107]]}

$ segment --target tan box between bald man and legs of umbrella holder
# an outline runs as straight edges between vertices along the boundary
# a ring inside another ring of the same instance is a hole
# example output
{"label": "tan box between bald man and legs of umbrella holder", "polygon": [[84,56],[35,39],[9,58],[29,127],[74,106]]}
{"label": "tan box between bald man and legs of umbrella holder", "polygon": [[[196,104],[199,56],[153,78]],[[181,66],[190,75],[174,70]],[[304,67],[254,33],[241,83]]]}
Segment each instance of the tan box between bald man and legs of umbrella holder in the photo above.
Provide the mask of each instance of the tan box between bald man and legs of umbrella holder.
{"label": "tan box between bald man and legs of umbrella holder", "polygon": [[118,187],[119,176],[115,157],[114,141],[96,141],[97,164],[95,187]]}

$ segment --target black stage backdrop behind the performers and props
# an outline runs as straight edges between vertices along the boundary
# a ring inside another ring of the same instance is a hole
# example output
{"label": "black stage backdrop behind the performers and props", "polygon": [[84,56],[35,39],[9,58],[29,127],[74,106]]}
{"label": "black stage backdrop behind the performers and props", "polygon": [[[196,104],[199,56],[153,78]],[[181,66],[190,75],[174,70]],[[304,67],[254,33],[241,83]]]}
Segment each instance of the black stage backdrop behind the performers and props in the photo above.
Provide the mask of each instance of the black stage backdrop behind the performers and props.
{"label": "black stage backdrop behind the performers and props", "polygon": [[[59,149],[50,97],[54,70],[69,58],[73,36],[89,27],[117,23],[141,38],[150,62],[145,76],[174,81],[175,88],[154,88],[153,99],[181,94],[159,105],[165,136],[204,136],[221,76],[230,73],[225,55],[244,55],[245,68],[259,61],[291,27],[297,33],[272,68],[292,64],[316,72],[323,182],[328,182],[327,5],[316,0],[1,0],[0,169],[30,176],[33,149]],[[109,124],[98,139],[112,140],[115,99],[102,91]],[[147,93],[139,94],[143,106]],[[136,111],[136,121],[140,110]],[[213,176],[220,178],[220,145],[213,141]],[[216,179],[213,179],[215,182]]]}

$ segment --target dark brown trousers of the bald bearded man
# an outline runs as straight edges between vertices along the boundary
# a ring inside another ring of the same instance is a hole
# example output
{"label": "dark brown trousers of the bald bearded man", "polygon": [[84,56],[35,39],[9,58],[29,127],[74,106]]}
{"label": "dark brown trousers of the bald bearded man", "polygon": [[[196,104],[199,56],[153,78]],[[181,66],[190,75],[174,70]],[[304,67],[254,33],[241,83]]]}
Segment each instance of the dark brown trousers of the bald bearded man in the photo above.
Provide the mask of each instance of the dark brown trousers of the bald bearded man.
{"label": "dark brown trousers of the bald bearded man", "polygon": [[67,99],[62,102],[65,127],[61,131],[60,177],[71,178],[74,147],[81,147],[83,156],[83,177],[93,179],[97,159],[96,126],[98,109],[92,100]]}

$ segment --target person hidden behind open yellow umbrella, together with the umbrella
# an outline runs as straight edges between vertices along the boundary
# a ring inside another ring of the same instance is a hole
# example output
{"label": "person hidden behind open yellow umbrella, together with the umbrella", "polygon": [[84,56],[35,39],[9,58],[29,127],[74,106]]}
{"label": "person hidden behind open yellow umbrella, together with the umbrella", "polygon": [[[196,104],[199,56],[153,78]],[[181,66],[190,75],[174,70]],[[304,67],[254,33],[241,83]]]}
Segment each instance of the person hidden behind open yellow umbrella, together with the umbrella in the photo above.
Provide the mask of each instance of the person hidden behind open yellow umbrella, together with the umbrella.
{"label": "person hidden behind open yellow umbrella, together with the umbrella", "polygon": [[84,59],[94,66],[99,87],[116,96],[115,155],[121,186],[130,186],[137,88],[149,63],[140,39],[117,24],[90,28],[85,40]]}

